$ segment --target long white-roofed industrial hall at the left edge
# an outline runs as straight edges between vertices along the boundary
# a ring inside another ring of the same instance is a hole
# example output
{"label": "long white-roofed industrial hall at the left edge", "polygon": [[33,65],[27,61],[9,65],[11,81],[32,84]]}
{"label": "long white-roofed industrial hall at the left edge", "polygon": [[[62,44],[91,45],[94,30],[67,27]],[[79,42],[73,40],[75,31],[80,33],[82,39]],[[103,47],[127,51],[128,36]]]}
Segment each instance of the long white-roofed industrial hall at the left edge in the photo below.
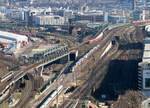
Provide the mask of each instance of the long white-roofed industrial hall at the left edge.
{"label": "long white-roofed industrial hall at the left edge", "polygon": [[16,49],[21,48],[28,44],[28,37],[25,35],[18,35],[10,32],[0,31],[0,43],[1,45],[10,48],[15,47]]}

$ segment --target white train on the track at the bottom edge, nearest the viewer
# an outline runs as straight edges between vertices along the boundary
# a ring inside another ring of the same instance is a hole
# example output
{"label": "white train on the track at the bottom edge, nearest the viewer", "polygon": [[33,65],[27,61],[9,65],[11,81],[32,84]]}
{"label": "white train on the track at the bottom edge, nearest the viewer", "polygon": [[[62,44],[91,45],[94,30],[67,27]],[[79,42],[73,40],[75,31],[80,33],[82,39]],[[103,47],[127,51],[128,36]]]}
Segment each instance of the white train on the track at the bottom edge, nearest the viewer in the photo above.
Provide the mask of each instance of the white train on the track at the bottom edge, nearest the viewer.
{"label": "white train on the track at the bottom edge, nearest the viewer", "polygon": [[60,94],[62,90],[63,85],[59,86],[47,99],[45,99],[43,104],[39,108],[46,108],[46,106],[50,104],[55,99],[57,94]]}

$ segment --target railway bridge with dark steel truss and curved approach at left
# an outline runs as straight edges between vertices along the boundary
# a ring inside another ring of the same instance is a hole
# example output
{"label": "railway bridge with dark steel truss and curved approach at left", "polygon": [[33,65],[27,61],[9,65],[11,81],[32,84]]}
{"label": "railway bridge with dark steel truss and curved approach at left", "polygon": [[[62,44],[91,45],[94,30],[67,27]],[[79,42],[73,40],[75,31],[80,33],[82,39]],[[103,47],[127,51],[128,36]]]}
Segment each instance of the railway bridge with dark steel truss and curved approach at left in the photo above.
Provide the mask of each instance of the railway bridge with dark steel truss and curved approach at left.
{"label": "railway bridge with dark steel truss and curved approach at left", "polygon": [[61,59],[72,61],[77,57],[77,52],[78,51],[76,50],[70,51],[68,46],[56,46],[34,54],[33,58],[29,60],[29,66],[22,67],[18,71],[11,71],[8,75],[5,75],[0,79],[0,100],[3,94],[5,94],[13,84],[24,77],[28,72],[36,70],[36,72],[40,72],[40,75],[42,76],[44,66]]}

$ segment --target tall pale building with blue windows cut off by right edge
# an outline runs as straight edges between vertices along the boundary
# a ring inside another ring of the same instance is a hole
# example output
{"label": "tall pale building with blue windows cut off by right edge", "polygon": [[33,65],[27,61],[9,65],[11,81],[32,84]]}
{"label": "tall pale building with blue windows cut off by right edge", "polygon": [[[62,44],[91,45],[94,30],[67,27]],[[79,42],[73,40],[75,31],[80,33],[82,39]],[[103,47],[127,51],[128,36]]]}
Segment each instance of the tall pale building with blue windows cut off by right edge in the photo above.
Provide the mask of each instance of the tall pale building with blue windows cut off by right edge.
{"label": "tall pale building with blue windows cut off by right edge", "polygon": [[143,91],[145,96],[150,96],[150,38],[145,38],[143,58],[139,63],[138,76],[139,89]]}

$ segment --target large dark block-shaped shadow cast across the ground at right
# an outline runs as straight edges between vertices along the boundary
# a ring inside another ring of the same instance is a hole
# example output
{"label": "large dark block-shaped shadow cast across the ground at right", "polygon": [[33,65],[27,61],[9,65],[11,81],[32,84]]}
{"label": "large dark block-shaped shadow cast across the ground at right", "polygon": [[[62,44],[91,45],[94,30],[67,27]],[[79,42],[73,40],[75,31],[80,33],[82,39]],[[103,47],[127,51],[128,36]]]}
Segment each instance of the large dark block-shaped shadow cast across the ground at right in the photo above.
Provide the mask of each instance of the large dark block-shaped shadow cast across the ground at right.
{"label": "large dark block-shaped shadow cast across the ground at right", "polygon": [[[125,94],[127,90],[137,89],[137,60],[112,60],[100,87],[92,95],[100,100],[116,100],[119,94]],[[101,97],[102,94],[106,98]]]}

